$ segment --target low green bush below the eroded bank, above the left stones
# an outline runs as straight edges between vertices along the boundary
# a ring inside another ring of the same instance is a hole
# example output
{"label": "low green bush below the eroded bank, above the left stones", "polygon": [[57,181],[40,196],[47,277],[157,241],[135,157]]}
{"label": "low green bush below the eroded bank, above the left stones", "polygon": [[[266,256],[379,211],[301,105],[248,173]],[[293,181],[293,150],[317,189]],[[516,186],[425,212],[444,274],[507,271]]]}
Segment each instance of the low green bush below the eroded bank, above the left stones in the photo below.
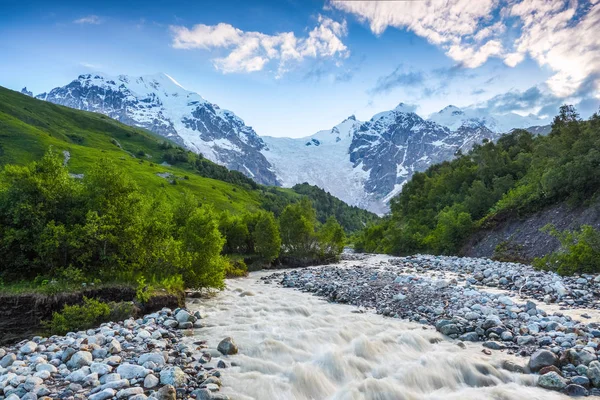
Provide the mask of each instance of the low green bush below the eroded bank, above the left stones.
{"label": "low green bush below the eroded bank, above the left stones", "polygon": [[110,312],[108,304],[84,297],[82,305],[65,305],[62,312],[52,314],[52,320],[46,326],[53,335],[64,335],[107,322]]}

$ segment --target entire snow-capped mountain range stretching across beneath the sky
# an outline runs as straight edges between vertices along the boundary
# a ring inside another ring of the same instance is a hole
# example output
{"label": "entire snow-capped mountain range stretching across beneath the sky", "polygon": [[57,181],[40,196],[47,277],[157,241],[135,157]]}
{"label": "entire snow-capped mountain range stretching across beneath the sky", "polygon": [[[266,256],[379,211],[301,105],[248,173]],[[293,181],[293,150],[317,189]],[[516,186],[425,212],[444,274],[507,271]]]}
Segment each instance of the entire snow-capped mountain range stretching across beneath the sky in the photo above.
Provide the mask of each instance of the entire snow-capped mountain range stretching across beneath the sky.
{"label": "entire snow-capped mountain range stretching across beneath the sky", "polygon": [[400,103],[369,121],[351,116],[304,138],[259,136],[233,112],[162,73],[85,74],[36,98],[146,128],[259,183],[290,187],[308,182],[379,214],[415,172],[484,139],[547,124],[534,115],[488,115],[455,106],[424,119]]}

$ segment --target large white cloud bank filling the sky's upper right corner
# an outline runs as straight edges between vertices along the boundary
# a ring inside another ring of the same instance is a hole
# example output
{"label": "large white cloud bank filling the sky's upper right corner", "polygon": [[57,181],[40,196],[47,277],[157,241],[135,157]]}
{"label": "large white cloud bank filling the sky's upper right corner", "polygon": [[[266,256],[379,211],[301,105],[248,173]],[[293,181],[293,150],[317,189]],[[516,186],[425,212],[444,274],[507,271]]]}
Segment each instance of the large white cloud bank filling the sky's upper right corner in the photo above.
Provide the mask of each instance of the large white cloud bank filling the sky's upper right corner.
{"label": "large white cloud bank filling the sky's upper right corner", "polygon": [[554,75],[546,82],[560,97],[596,79],[600,96],[599,0],[337,1],[376,35],[407,29],[441,47],[469,68],[499,57],[515,67],[527,55]]}

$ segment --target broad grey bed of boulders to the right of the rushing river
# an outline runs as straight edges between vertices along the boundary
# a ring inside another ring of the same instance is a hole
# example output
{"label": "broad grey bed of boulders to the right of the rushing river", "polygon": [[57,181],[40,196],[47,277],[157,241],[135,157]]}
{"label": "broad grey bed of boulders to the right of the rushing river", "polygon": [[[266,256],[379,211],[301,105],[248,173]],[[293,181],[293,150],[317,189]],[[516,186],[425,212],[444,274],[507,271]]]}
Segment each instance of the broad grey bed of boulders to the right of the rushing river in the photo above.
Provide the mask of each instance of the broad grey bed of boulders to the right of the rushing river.
{"label": "broad grey bed of boulders to the right of the rushing river", "polygon": [[[339,265],[263,280],[432,325],[459,345],[527,357],[514,368],[541,374],[539,386],[600,395],[600,321],[590,315],[600,308],[597,276],[561,278],[487,259],[345,255]],[[568,315],[572,309],[582,318]]]}

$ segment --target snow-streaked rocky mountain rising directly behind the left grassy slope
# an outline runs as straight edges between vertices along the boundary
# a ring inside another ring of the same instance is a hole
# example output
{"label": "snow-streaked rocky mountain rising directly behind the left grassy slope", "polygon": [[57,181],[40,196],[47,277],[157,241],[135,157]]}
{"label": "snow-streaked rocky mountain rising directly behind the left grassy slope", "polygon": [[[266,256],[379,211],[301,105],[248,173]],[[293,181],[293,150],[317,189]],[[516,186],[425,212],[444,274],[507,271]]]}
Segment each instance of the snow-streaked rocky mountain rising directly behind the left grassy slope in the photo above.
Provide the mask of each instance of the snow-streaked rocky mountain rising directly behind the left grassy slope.
{"label": "snow-streaked rocky mountain rising directly behind the left grassy slope", "polygon": [[279,184],[260,153],[265,144],[251,127],[166,74],[85,74],[36,98],[146,128],[259,183]]}

